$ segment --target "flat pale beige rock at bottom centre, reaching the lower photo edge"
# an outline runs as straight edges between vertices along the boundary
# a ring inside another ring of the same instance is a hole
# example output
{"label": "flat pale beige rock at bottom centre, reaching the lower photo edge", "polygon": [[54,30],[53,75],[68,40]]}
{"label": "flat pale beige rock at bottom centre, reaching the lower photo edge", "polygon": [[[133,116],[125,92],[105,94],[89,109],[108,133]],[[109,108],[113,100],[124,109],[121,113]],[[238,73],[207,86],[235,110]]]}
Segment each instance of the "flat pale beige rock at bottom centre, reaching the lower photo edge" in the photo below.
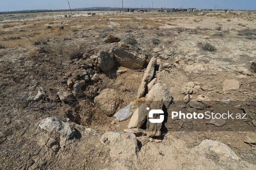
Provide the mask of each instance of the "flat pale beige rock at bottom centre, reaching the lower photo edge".
{"label": "flat pale beige rock at bottom centre, reaching the lower photo edge", "polygon": [[137,169],[137,139],[134,134],[107,132],[100,141],[109,147],[115,170]]}

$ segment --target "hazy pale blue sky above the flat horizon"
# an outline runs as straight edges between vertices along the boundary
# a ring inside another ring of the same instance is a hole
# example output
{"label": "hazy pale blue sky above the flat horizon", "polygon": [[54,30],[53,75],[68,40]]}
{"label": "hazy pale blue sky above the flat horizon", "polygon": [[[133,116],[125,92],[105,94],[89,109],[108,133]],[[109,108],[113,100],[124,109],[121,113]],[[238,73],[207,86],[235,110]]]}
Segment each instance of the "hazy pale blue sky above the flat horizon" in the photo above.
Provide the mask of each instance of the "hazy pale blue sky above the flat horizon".
{"label": "hazy pale blue sky above the flat horizon", "polygon": [[[202,8],[256,10],[256,0],[123,0],[124,7]],[[93,6],[122,7],[122,0],[69,0],[71,8]],[[1,0],[0,11],[68,9],[67,0]]]}

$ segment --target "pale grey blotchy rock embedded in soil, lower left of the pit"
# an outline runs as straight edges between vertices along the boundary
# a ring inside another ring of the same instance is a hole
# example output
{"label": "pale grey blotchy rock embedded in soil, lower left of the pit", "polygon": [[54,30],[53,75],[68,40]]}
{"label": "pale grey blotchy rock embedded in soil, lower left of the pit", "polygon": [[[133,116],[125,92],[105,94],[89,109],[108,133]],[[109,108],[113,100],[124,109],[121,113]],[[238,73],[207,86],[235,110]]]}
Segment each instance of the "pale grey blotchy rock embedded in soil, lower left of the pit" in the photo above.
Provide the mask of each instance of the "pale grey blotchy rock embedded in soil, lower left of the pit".
{"label": "pale grey blotchy rock embedded in soil, lower left of the pit", "polygon": [[63,122],[56,117],[48,117],[46,119],[43,119],[38,126],[44,130],[55,131],[65,139],[70,139],[76,136],[76,130],[72,125]]}

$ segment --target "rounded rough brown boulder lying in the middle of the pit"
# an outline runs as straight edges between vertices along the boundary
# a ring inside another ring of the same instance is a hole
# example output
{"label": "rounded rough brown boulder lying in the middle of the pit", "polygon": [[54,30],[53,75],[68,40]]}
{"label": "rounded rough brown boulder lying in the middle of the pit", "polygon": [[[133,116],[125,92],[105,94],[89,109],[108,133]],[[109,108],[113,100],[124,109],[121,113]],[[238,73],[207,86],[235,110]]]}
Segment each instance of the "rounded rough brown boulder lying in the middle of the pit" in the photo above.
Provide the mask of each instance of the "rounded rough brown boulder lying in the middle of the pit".
{"label": "rounded rough brown boulder lying in the middle of the pit", "polygon": [[121,99],[119,98],[116,90],[111,88],[106,88],[101,91],[99,96],[94,98],[94,102],[99,108],[108,116],[113,115],[118,108]]}

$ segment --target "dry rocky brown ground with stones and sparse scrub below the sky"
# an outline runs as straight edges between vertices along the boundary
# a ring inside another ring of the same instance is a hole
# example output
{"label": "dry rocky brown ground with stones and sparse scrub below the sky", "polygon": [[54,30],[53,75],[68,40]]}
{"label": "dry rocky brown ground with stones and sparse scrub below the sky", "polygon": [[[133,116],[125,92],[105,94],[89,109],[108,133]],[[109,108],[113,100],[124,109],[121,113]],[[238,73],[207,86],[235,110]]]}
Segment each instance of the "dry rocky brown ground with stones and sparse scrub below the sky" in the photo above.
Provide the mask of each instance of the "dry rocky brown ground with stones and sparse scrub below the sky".
{"label": "dry rocky brown ground with stones and sparse scrub below the sky", "polygon": [[[203,11],[0,23],[1,169],[256,169],[255,22]],[[168,119],[152,126],[146,107]],[[224,108],[246,121],[170,118]]]}

